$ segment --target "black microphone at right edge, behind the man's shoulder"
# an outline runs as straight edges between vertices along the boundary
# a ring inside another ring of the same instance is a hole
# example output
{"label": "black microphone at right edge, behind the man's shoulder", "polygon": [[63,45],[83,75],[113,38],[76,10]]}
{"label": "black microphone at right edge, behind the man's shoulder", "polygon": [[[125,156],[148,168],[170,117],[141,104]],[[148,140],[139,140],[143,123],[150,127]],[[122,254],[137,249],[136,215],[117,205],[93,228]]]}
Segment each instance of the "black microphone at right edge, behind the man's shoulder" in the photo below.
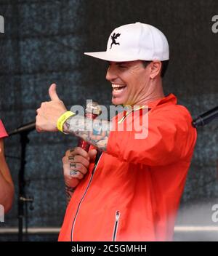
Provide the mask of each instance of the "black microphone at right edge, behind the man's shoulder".
{"label": "black microphone at right edge, behind the man's shoulder", "polygon": [[193,120],[193,127],[203,127],[205,124],[209,124],[213,119],[218,117],[218,106],[211,110],[202,113],[196,119]]}

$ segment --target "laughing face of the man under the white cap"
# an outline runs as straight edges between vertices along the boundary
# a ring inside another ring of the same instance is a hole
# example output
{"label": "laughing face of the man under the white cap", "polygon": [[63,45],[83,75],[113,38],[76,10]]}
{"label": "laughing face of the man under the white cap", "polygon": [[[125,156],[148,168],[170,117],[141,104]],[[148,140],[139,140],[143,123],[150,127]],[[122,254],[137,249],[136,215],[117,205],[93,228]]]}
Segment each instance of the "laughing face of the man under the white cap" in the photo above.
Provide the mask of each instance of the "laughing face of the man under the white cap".
{"label": "laughing face of the man under the white cap", "polygon": [[145,102],[150,86],[148,66],[145,68],[141,60],[109,63],[106,79],[113,87],[114,105],[142,105]]}

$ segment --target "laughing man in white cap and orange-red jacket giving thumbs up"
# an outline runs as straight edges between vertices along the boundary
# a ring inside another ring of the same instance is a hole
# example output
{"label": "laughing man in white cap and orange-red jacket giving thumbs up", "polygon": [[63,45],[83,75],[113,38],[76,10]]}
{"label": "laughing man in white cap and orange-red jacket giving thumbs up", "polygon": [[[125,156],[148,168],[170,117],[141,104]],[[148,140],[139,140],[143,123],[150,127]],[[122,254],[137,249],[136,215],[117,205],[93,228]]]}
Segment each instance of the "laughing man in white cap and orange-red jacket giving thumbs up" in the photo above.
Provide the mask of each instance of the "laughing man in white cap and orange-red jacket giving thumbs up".
{"label": "laughing man in white cap and orange-red jacket giving thumbs up", "polygon": [[[123,25],[110,34],[106,52],[86,55],[109,62],[112,103],[130,108],[110,122],[94,120],[90,132],[90,119],[83,122],[66,112],[52,84],[51,101],[37,110],[39,132],[58,128],[92,145],[88,153],[77,147],[63,159],[66,191],[72,197],[59,240],[171,240],[196,131],[187,109],[177,105],[174,95],[163,94],[166,37],[148,24]],[[144,137],[136,137],[137,129],[125,129],[146,117]],[[95,149],[102,154],[94,164]]]}

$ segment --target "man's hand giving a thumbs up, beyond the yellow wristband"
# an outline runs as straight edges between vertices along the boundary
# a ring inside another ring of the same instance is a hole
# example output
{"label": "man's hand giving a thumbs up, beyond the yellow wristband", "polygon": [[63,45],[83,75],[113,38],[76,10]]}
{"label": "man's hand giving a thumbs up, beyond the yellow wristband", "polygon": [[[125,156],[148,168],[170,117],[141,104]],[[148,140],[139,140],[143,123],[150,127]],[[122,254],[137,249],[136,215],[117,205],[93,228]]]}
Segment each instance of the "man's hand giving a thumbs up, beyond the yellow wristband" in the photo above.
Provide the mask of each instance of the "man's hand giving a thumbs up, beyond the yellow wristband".
{"label": "man's hand giving a thumbs up, beyond the yellow wristband", "polygon": [[49,87],[49,97],[51,101],[41,103],[41,107],[36,110],[36,130],[38,132],[56,132],[57,120],[67,109],[57,95],[56,84]]}

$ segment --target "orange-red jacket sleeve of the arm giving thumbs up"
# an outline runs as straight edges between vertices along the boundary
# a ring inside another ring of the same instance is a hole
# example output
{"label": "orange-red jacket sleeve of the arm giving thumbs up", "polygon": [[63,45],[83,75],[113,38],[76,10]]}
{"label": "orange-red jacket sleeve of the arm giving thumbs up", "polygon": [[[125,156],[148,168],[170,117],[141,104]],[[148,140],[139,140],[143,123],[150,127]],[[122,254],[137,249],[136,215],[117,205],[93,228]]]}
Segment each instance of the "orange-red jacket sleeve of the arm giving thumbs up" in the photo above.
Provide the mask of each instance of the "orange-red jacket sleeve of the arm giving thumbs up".
{"label": "orange-red jacket sleeve of the arm giving thumbs up", "polygon": [[[187,109],[174,105],[172,109],[150,111],[147,137],[136,138],[136,131],[110,131],[107,153],[121,161],[150,166],[172,164],[193,153],[196,129]],[[188,161],[188,160],[187,160]]]}

